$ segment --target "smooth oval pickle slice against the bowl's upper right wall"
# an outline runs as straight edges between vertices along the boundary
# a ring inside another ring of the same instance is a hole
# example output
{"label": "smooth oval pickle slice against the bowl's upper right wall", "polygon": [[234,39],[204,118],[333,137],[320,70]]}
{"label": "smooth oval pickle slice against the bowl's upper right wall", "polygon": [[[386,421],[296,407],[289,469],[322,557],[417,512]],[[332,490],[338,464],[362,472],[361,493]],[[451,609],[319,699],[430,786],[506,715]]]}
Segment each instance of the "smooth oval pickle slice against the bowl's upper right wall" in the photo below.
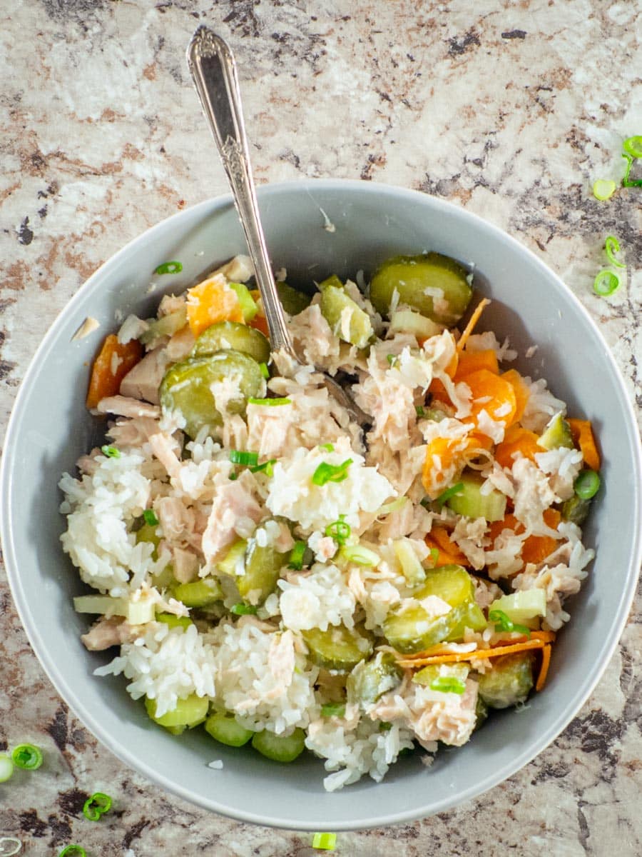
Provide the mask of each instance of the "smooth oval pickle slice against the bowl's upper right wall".
{"label": "smooth oval pickle slice against the bowl's upper right wall", "polygon": [[383,262],[370,284],[370,299],[381,315],[388,314],[395,291],[399,303],[449,326],[461,319],[473,296],[466,268],[439,253],[395,256]]}

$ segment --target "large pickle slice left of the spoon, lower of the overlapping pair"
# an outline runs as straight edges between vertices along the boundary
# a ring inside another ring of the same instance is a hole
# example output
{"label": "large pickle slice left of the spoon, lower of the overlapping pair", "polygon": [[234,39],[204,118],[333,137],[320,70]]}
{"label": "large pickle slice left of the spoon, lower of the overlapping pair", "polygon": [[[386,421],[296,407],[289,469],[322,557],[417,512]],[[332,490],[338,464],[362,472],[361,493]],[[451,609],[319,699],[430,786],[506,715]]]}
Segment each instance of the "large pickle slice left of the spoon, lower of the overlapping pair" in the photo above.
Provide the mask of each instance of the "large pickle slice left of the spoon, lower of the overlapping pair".
{"label": "large pickle slice left of the spoon, lower of the overlapping pair", "polygon": [[211,357],[189,357],[175,363],[161,381],[163,414],[178,411],[192,438],[204,426],[217,428],[223,418],[217,411],[211,385],[227,379],[235,381],[241,392],[239,399],[229,402],[228,410],[244,414],[248,397],[259,396],[264,389],[259,363],[252,357],[241,351],[217,351]]}

